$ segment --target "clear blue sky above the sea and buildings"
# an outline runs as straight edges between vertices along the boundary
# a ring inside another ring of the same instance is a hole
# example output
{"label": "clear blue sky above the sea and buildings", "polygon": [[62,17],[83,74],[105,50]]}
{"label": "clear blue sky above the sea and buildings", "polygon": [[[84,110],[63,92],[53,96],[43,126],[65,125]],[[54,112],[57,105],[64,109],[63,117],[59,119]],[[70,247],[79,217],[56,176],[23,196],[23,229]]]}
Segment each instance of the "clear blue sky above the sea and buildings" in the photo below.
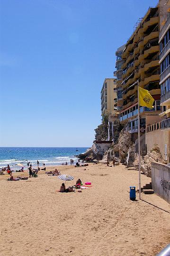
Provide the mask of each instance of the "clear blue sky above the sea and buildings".
{"label": "clear blue sky above the sea and buildings", "polygon": [[91,146],[115,51],[158,0],[0,0],[0,146]]}

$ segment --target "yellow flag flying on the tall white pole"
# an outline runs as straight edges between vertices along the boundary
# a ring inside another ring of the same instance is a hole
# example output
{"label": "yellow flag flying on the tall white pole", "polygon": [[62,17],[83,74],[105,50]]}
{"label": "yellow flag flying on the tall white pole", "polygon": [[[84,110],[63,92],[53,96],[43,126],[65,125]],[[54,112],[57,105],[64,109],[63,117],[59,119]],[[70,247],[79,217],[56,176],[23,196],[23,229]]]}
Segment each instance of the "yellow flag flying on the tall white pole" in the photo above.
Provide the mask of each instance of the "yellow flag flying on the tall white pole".
{"label": "yellow flag flying on the tall white pole", "polygon": [[148,107],[150,109],[153,108],[153,97],[151,96],[151,94],[149,93],[148,90],[145,90],[141,87],[138,87],[139,90],[139,106],[144,106],[144,107]]}

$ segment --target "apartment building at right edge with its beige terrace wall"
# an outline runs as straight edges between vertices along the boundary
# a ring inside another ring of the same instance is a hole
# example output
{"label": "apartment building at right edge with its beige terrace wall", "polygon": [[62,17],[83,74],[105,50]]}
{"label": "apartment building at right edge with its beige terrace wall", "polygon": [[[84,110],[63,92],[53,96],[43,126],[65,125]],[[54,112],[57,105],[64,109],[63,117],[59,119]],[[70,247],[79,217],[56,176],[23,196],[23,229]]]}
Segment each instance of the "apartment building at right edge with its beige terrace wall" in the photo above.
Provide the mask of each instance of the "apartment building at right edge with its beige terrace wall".
{"label": "apartment building at right edge with its beige terrace wall", "polygon": [[[167,8],[170,11],[170,1]],[[166,14],[163,23],[159,35],[161,121],[146,127],[146,144],[148,150],[157,144],[163,159],[170,163],[170,13]]]}

